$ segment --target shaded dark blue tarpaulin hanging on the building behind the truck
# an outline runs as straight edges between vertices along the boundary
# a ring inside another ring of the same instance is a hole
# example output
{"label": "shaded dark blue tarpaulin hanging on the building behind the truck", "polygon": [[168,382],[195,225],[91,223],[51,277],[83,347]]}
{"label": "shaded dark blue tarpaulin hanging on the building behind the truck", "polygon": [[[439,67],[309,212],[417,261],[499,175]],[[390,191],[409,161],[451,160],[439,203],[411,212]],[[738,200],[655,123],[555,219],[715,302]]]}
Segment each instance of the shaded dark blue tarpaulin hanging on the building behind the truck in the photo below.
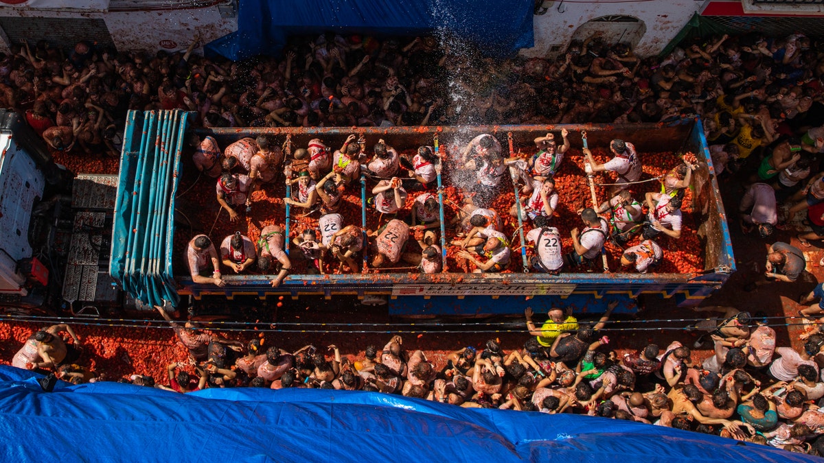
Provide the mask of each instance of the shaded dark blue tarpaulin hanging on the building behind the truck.
{"label": "shaded dark blue tarpaulin hanging on the building behind the truck", "polygon": [[533,0],[240,0],[237,30],[208,44],[230,59],[279,55],[289,35],[460,35],[489,54],[533,45]]}

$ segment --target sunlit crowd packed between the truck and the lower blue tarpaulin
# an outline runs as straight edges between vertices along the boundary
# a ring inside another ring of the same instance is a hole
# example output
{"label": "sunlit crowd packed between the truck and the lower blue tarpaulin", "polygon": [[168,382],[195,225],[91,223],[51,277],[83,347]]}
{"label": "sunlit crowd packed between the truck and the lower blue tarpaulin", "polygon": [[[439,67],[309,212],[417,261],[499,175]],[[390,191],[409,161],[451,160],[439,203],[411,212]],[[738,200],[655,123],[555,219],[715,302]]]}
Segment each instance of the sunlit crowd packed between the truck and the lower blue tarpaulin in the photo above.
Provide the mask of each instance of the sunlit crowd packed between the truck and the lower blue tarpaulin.
{"label": "sunlit crowd packed between the truck and the lower blue tarpaulin", "polygon": [[[136,373],[117,381],[180,393],[241,386],[381,392],[461,407],[625,419],[824,455],[824,409],[817,405],[824,398],[822,332],[803,335],[799,353],[776,344],[762,314],[705,306],[695,309],[696,317],[718,316],[687,327],[705,332],[692,347],[713,346],[701,361],[678,341],[618,353],[602,335],[616,305],[592,322],[553,308],[541,325],[527,308],[530,336],[521,348],[507,352],[489,339],[438,364],[421,350],[407,350],[399,335],[382,347],[363,346],[358,356],[342,355],[334,344],[288,352],[266,347],[260,336],[243,344],[196,322],[181,324],[157,307],[188,358],[167,365],[165,377]],[[53,325],[32,334],[12,365],[74,384],[115,381],[79,366],[82,353],[71,327]]]}

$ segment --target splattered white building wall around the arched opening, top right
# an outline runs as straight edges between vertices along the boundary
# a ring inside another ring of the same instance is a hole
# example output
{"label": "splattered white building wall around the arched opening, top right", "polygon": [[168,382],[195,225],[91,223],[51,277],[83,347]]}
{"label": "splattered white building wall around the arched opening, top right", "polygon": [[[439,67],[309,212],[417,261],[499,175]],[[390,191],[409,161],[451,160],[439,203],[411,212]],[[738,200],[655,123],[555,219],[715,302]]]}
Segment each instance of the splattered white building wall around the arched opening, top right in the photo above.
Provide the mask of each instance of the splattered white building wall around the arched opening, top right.
{"label": "splattered white building wall around the arched opening, top right", "polygon": [[545,1],[545,14],[534,16],[535,46],[523,49],[522,54],[527,57],[554,56],[566,49],[579,26],[610,15],[633,16],[643,21],[644,35],[635,46],[635,53],[642,56],[657,54],[703,4],[696,0]]}

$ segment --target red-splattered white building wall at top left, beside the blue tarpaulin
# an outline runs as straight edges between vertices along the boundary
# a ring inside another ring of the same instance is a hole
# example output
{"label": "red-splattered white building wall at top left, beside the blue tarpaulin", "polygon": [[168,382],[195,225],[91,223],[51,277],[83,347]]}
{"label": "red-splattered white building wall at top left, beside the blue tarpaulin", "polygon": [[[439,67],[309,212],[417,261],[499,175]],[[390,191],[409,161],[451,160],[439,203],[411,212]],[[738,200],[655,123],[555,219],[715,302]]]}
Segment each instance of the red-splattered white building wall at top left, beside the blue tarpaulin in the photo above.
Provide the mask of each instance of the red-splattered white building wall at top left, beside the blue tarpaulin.
{"label": "red-splattered white building wall at top left, beside the blue tarpaulin", "polygon": [[[64,27],[55,27],[55,21],[37,21],[35,18],[66,19]],[[104,37],[101,21],[109,36]],[[21,38],[33,43],[49,40],[65,46],[64,41],[86,39],[102,44],[114,44],[119,51],[186,49],[196,33],[200,43],[206,44],[237,30],[237,19],[222,18],[218,7],[190,10],[150,12],[77,12],[67,10],[34,10],[0,7],[0,52]],[[25,35],[24,35],[25,34]],[[92,36],[89,36],[91,34]],[[57,40],[57,37],[63,40]]]}

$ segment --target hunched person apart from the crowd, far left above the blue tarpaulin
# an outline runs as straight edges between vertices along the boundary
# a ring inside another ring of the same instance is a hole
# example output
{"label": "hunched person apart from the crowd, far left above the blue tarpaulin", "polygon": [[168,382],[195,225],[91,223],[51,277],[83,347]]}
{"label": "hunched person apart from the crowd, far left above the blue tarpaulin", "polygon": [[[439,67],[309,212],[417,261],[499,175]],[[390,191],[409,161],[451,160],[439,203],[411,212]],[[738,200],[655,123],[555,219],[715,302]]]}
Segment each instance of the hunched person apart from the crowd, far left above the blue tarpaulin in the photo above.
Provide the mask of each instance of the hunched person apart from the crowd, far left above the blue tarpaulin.
{"label": "hunched person apart from the crowd, far left above the blue tarpaulin", "polygon": [[[67,332],[74,344],[67,346],[59,336]],[[75,362],[80,356],[80,338],[74,334],[72,327],[65,324],[51,325],[35,332],[26,344],[12,358],[12,367],[35,370],[39,368],[57,368],[61,363]]]}

